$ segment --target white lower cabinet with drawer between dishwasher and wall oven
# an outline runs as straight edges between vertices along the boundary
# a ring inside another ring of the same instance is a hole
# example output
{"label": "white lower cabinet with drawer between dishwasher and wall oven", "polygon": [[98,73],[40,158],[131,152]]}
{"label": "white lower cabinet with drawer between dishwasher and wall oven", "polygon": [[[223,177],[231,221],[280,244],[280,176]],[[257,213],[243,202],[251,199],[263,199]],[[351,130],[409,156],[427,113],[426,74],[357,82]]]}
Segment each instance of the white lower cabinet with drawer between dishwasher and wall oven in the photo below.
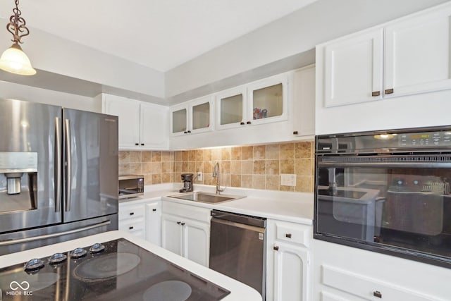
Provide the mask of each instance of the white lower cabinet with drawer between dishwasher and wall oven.
{"label": "white lower cabinet with drawer between dishwasher and wall oven", "polygon": [[311,231],[311,226],[268,219],[266,300],[310,300]]}

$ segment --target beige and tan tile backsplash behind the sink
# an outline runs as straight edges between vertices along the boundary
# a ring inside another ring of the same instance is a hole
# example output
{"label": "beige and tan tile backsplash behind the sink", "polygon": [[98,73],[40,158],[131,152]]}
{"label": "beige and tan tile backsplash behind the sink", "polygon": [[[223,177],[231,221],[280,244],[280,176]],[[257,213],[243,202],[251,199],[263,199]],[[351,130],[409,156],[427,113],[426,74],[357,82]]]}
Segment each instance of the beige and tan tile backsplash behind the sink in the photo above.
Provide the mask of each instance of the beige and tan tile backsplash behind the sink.
{"label": "beige and tan tile backsplash behind the sink", "polygon": [[[221,186],[313,192],[314,142],[191,149],[184,151],[121,151],[119,174],[142,174],[146,185],[180,182],[182,173],[202,171],[194,185],[216,185],[211,175],[218,162]],[[294,174],[295,186],[280,183],[280,174]]]}

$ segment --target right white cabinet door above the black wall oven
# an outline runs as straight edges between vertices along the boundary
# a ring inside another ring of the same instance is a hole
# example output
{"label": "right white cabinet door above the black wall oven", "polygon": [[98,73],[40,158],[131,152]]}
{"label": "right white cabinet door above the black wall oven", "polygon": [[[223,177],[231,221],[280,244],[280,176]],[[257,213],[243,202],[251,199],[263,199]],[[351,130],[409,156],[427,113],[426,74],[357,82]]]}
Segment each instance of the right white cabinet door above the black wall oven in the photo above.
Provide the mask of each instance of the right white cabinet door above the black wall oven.
{"label": "right white cabinet door above the black wall oven", "polygon": [[385,94],[451,88],[451,8],[385,28]]}

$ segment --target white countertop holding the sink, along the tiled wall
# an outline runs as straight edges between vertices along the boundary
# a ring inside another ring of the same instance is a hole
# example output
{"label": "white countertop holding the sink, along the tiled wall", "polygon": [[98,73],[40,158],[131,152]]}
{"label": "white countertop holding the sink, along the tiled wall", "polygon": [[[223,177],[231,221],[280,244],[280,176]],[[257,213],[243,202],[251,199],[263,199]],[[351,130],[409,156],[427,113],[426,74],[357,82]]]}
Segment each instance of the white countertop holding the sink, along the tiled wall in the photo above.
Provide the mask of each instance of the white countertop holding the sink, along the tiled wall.
{"label": "white countertop holding the sink, along the tiled wall", "polygon": [[[266,217],[267,219],[278,219],[311,225],[314,211],[314,194],[303,192],[285,192],[276,190],[255,190],[245,188],[226,188],[223,195],[245,195],[242,199],[209,204],[185,199],[167,197],[178,195],[181,185],[151,185],[146,186],[144,196],[119,201],[120,204],[128,202],[148,202],[151,199],[162,199],[168,202],[190,204],[192,206],[204,207],[230,211],[239,214]],[[195,191],[215,192],[211,185],[194,185]]]}

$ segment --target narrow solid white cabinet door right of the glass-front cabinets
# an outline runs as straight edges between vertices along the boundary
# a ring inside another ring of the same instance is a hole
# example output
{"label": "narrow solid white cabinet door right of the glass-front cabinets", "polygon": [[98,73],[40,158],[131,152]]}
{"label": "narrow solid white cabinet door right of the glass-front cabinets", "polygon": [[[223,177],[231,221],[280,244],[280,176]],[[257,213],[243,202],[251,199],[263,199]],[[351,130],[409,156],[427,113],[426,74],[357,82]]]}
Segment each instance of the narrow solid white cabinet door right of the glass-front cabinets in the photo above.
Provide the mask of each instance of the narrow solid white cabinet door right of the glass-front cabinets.
{"label": "narrow solid white cabinet door right of the glass-front cabinets", "polygon": [[293,135],[315,135],[315,67],[296,70],[292,83]]}

